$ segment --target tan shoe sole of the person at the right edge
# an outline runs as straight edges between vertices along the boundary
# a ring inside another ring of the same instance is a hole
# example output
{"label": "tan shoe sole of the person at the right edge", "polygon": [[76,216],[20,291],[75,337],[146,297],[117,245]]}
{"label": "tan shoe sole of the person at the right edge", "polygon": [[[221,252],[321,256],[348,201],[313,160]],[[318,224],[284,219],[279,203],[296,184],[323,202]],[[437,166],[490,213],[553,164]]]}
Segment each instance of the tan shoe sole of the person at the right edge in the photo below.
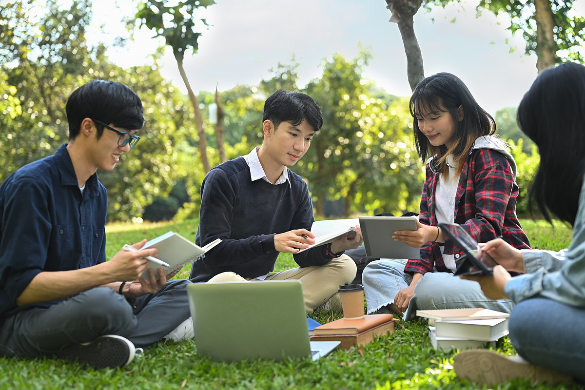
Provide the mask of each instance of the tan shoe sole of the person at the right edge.
{"label": "tan shoe sole of the person at the right edge", "polygon": [[532,382],[541,381],[549,385],[568,383],[570,375],[549,368],[517,361],[493,351],[464,351],[453,358],[457,377],[479,384],[495,385],[514,378],[526,378]]}

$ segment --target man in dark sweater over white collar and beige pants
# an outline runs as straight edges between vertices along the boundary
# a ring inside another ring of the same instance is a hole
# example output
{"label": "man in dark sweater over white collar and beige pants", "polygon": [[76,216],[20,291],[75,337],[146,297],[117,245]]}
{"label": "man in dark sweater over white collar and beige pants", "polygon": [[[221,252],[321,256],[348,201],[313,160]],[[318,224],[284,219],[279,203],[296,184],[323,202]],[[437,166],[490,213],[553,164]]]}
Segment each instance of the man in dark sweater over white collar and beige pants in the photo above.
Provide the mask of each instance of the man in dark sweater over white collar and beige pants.
{"label": "man in dark sweater over white collar and beige pants", "polygon": [[[362,234],[298,253],[315,242],[307,184],[292,167],[321,129],[321,108],[308,95],[283,89],[264,102],[262,146],[213,168],[201,184],[195,243],[222,239],[191,268],[193,282],[300,279],[305,309],[341,311],[339,285],[351,283],[356,264],[343,254]],[[273,272],[279,253],[292,253],[297,268]],[[285,304],[285,302],[283,302]]]}

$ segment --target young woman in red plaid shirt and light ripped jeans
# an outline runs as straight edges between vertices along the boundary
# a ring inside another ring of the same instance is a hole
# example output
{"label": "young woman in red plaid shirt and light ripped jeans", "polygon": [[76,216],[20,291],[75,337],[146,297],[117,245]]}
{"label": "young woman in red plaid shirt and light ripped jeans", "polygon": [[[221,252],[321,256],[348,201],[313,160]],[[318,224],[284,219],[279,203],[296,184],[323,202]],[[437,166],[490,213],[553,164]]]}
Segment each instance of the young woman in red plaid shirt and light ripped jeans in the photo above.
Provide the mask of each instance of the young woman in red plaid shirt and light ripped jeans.
{"label": "young woman in red plaid shirt and light ripped jeans", "polygon": [[[462,256],[443,239],[439,223],[462,225],[477,242],[502,236],[518,249],[530,243],[516,216],[516,163],[495,121],[466,85],[450,73],[422,80],[410,99],[417,151],[426,164],[418,229],[392,236],[421,249],[421,258],[381,259],[363,272],[367,312],[417,309],[512,309],[508,299],[491,301],[479,284],[453,275]],[[416,287],[416,289],[415,289]]]}

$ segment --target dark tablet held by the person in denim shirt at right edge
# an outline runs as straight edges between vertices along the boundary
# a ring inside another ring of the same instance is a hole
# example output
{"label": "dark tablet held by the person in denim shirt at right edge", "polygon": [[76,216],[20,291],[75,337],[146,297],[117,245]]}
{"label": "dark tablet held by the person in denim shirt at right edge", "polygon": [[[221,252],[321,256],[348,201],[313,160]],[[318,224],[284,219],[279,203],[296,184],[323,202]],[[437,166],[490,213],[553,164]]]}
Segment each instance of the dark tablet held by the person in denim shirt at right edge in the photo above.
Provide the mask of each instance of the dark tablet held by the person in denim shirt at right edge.
{"label": "dark tablet held by the person in denim shirt at right edge", "polygon": [[498,263],[484,251],[479,250],[477,241],[463,227],[450,223],[439,223],[443,237],[448,237],[463,251],[463,260],[457,266],[455,275],[493,275]]}

